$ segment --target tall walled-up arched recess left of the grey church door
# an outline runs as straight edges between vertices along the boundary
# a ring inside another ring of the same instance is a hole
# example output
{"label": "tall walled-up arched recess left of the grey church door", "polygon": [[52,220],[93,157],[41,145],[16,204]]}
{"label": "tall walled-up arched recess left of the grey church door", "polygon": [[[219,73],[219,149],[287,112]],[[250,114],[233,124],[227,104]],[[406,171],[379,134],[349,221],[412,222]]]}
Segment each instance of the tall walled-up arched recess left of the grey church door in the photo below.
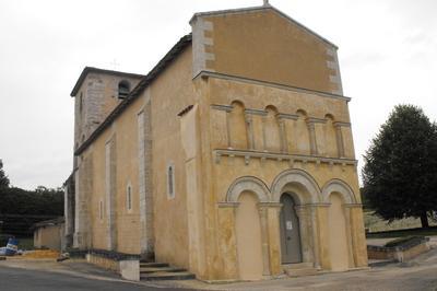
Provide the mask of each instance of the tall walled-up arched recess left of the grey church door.
{"label": "tall walled-up arched recess left of the grey church door", "polygon": [[236,236],[241,280],[262,279],[261,225],[257,196],[244,191],[238,198]]}

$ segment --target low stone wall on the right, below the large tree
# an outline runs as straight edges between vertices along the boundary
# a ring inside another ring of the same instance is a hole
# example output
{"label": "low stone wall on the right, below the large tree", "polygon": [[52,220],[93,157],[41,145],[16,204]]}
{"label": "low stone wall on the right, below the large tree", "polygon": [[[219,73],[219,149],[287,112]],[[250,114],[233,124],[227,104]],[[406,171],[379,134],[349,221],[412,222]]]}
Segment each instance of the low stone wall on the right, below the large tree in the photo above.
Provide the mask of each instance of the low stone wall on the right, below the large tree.
{"label": "low stone wall on the right, below the large tree", "polygon": [[429,251],[429,238],[416,240],[405,246],[376,246],[367,245],[367,256],[369,259],[393,259],[404,261]]}

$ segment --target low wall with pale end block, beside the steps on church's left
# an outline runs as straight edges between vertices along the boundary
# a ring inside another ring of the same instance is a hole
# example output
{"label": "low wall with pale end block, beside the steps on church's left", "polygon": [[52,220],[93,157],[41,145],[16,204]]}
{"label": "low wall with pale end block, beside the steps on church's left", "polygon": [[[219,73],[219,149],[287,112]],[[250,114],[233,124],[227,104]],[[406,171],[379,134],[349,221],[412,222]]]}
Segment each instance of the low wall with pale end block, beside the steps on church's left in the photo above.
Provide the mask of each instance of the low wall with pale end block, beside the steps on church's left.
{"label": "low wall with pale end block, beside the steps on church's left", "polygon": [[86,260],[93,265],[121,275],[123,279],[140,280],[140,256],[103,249],[90,249]]}

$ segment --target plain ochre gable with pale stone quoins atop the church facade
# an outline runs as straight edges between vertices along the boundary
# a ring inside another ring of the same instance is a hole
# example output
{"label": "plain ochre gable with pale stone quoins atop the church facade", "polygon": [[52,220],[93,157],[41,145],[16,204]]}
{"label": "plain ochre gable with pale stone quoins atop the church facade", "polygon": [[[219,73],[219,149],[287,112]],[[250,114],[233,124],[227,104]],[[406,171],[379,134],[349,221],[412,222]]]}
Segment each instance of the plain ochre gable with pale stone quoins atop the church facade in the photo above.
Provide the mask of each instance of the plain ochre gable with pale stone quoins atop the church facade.
{"label": "plain ochre gable with pale stone quoins atop the church facade", "polygon": [[274,8],[199,13],[191,24],[194,74],[210,70],[342,94],[336,47]]}

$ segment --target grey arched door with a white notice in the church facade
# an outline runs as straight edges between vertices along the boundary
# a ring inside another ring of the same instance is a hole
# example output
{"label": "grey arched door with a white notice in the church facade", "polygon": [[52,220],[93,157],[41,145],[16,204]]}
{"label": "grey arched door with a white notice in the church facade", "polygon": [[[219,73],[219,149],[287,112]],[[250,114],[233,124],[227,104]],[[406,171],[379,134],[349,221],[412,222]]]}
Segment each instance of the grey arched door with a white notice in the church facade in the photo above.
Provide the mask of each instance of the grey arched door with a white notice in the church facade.
{"label": "grey arched door with a white notice in the church facade", "polygon": [[290,194],[281,196],[283,205],[280,214],[282,264],[302,263],[299,218],[295,199]]}

